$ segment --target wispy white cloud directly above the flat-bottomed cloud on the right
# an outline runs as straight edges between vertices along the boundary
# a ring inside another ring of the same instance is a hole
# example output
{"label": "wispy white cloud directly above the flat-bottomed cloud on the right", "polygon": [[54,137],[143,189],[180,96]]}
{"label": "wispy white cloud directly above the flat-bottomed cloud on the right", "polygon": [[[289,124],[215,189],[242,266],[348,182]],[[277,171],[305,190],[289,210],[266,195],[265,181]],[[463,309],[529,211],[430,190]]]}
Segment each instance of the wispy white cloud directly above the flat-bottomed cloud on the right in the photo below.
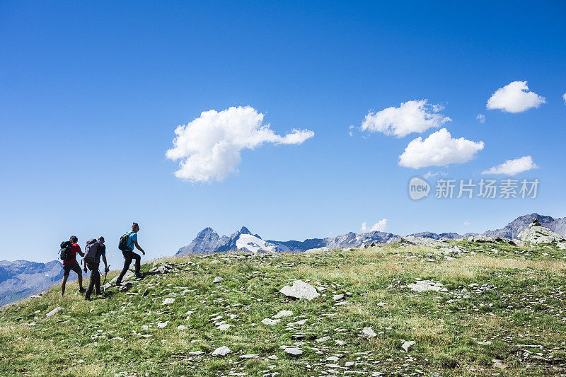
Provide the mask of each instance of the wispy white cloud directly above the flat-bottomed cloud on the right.
{"label": "wispy white cloud directly above the flat-bottomed cloud on the right", "polygon": [[438,114],[441,105],[429,105],[427,100],[410,100],[398,108],[386,108],[379,112],[369,112],[362,122],[362,131],[382,132],[386,135],[404,137],[412,132],[424,132],[432,127],[440,127],[451,119]]}

